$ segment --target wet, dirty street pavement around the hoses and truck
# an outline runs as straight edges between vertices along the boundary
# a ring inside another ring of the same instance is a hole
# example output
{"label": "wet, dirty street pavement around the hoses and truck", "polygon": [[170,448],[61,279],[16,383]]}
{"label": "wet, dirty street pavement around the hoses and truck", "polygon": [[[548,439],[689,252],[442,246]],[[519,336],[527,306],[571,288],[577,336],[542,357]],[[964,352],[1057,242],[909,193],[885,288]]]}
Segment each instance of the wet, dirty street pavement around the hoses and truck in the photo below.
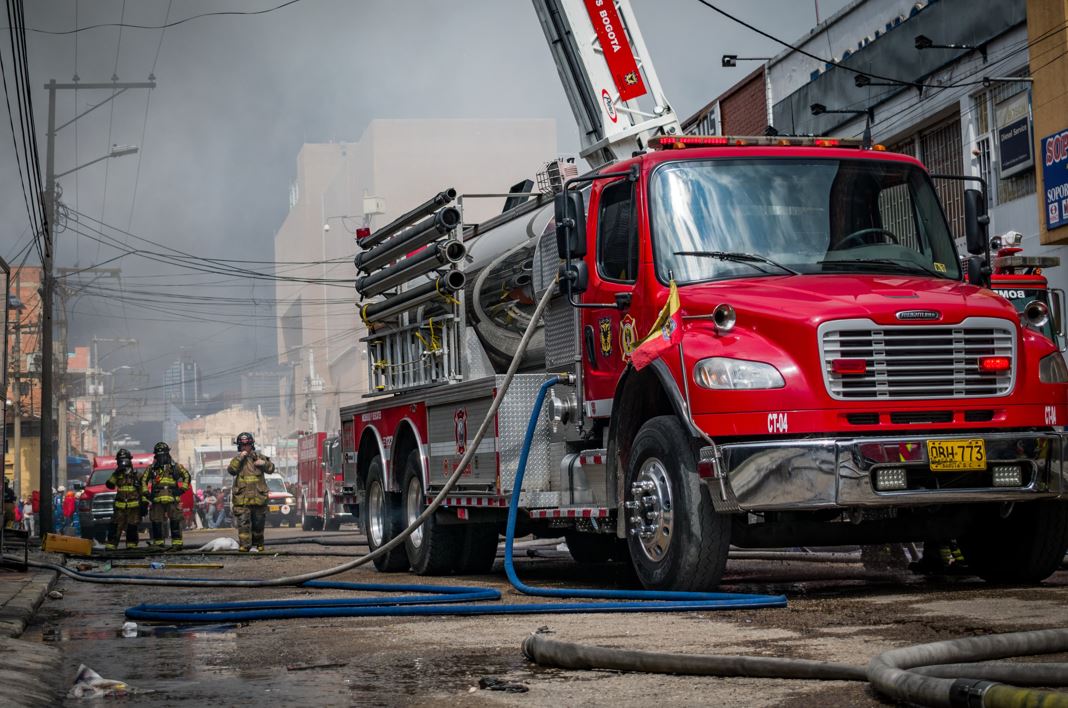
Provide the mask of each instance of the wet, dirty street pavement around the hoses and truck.
{"label": "wet, dirty street pavement around the hoses and truck", "polygon": [[[166,562],[222,563],[222,569],[131,569],[139,575],[279,577],[335,565],[315,546],[277,546],[300,532],[270,530],[263,556],[167,556]],[[207,533],[193,535],[207,540]],[[355,542],[352,536],[339,540]],[[326,550],[357,555],[365,546]],[[519,575],[538,585],[622,587],[618,566],[580,568],[565,552],[540,547],[517,553]],[[113,571],[114,572],[114,571]],[[360,568],[336,578],[355,582],[490,585],[504,601],[517,596],[498,562],[494,573],[467,578],[382,575]],[[1068,626],[1068,570],[1041,587],[994,588],[974,579],[923,579],[902,571],[873,572],[859,563],[732,561],[725,591],[785,593],[785,610],[681,614],[539,615],[287,619],[252,624],[160,626],[124,634],[123,612],[141,602],[214,602],[312,598],[336,592],[282,588],[155,588],[93,585],[62,579],[61,600],[48,600],[23,639],[58,646],[66,675],[85,664],[107,678],[152,691],[132,705],[883,705],[869,690],[845,682],[771,681],[564,672],[532,665],[522,639],[539,627],[554,638],[602,646],[704,654],[795,656],[865,663],[892,646],[955,636]],[[1064,658],[1061,659],[1065,660]],[[480,679],[521,685],[525,693],[482,690]],[[655,691],[651,691],[655,689]],[[68,699],[66,705],[82,705]]]}

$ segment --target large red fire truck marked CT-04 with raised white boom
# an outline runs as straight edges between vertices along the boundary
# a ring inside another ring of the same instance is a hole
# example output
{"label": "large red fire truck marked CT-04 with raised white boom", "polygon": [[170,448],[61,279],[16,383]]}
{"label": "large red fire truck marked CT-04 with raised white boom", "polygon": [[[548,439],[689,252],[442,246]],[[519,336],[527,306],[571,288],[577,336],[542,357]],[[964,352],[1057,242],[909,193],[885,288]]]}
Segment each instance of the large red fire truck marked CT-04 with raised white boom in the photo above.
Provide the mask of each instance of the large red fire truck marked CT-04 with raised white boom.
{"label": "large red fire truck marked CT-04 with raised white boom", "polygon": [[549,376],[520,533],[629,557],[646,587],[716,586],[732,544],[955,540],[989,580],[1059,567],[1068,366],[1041,313],[981,287],[981,193],[969,284],[915,159],[681,136],[626,1],[535,7],[593,171],[551,164],[481,224],[444,190],[359,242],[373,397],[341,439],[373,549],[457,469],[521,358],[444,506],[377,567],[492,564]]}

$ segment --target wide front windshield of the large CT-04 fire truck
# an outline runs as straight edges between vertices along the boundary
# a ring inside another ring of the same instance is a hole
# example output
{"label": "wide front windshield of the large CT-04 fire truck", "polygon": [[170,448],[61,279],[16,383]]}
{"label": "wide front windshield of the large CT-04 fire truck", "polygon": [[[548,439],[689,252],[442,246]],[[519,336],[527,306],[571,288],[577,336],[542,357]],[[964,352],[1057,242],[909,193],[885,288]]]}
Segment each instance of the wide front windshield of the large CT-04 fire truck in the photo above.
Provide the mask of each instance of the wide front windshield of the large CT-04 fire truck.
{"label": "wide front windshield of the large CT-04 fire truck", "polygon": [[[788,270],[960,279],[938,196],[912,164],[799,158],[669,162],[653,174],[649,205],[657,273],[664,282]],[[758,255],[781,267],[705,257],[709,253]]]}

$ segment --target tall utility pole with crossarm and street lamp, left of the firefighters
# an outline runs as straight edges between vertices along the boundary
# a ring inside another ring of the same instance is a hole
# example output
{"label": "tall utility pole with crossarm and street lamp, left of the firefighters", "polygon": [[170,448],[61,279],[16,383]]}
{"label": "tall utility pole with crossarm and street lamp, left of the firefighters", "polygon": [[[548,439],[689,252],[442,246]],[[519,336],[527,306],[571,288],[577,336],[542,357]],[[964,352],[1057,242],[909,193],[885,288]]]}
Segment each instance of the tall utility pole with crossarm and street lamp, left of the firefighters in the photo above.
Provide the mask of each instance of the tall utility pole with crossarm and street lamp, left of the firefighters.
{"label": "tall utility pole with crossarm and street lamp, left of the firefighters", "polygon": [[[57,177],[62,177],[65,174],[69,174],[75,170],[79,170],[94,162],[98,162],[107,157],[117,157],[119,155],[128,155],[128,150],[115,150],[101,158],[87,162],[85,164],[78,166],[74,170],[67,170],[66,172],[56,174],[56,131],[66,126],[70,125],[78,119],[96,110],[100,106],[104,106],[109,100],[114,100],[115,96],[125,93],[129,89],[155,89],[156,81],[155,77],[150,76],[148,81],[140,82],[127,82],[121,83],[117,77],[114,81],[108,83],[57,83],[56,79],[51,79],[45,84],[45,89],[48,91],[48,145],[46,148],[45,157],[45,193],[42,194],[42,206],[44,210],[44,256],[42,257],[41,264],[41,468],[37,475],[37,488],[41,490],[41,535],[47,533],[45,530],[52,526],[52,505],[51,505],[51,489],[56,486],[54,476],[54,457],[56,453],[52,450],[52,406],[54,405],[54,393],[52,391],[52,368],[56,365],[56,351],[52,345],[52,292],[56,288],[54,278],[52,276],[52,261],[54,258],[56,249],[56,217],[59,214],[59,208],[56,200],[56,179]],[[56,92],[63,90],[110,90],[111,97],[101,100],[99,104],[85,109],[78,115],[74,116],[63,125],[56,127]],[[66,356],[66,352],[63,352]],[[46,497],[47,495],[47,497]],[[48,503],[45,503],[45,500]]]}

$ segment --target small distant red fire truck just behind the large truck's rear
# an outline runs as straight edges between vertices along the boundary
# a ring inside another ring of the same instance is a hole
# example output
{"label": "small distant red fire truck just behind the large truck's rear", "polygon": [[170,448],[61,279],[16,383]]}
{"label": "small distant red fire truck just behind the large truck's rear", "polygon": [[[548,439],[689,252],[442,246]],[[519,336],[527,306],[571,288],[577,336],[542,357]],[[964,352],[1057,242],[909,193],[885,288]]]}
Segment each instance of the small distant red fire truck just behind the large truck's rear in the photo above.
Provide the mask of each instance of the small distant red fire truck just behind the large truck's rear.
{"label": "small distant red fire truck just behind the large truck's rear", "polygon": [[300,486],[297,507],[304,531],[337,531],[354,520],[346,510],[341,444],[326,432],[303,435],[297,439],[297,482]]}

